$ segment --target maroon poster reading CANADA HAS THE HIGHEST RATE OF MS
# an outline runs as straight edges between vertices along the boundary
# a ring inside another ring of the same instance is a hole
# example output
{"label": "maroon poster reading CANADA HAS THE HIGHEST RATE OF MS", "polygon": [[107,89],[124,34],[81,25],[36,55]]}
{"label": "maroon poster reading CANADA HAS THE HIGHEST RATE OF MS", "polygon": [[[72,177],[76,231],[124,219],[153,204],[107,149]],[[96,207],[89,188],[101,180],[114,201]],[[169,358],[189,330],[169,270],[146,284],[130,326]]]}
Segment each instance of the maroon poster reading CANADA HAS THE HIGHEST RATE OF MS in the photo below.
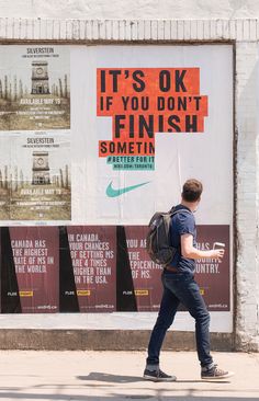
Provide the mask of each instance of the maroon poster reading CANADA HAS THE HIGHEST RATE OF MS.
{"label": "maroon poster reading CANADA HAS THE HIGHEST RATE OF MS", "polygon": [[59,309],[59,240],[57,227],[10,228],[22,312]]}

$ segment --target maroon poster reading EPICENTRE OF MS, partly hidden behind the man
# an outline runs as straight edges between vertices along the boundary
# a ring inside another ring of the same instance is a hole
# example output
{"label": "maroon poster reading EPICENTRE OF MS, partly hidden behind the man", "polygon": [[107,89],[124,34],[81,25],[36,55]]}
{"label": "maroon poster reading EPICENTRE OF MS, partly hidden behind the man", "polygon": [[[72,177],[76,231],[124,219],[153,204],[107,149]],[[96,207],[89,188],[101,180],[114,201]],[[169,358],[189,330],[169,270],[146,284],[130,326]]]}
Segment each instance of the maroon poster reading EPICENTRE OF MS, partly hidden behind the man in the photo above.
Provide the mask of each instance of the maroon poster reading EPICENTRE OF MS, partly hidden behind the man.
{"label": "maroon poster reading EPICENTRE OF MS, partly hidden behind the man", "polygon": [[157,311],[161,300],[161,266],[146,251],[147,227],[125,227],[128,259],[138,311]]}

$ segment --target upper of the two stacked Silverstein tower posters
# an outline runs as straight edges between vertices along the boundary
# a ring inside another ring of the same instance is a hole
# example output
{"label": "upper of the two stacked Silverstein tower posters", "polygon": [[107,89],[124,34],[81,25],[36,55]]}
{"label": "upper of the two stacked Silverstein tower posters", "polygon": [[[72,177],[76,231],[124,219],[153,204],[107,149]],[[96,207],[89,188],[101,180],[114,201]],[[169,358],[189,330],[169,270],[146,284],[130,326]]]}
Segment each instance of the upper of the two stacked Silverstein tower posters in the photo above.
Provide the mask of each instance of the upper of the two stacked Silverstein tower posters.
{"label": "upper of the two stacked Silverstein tower posters", "polygon": [[0,47],[0,130],[70,128],[68,47]]}

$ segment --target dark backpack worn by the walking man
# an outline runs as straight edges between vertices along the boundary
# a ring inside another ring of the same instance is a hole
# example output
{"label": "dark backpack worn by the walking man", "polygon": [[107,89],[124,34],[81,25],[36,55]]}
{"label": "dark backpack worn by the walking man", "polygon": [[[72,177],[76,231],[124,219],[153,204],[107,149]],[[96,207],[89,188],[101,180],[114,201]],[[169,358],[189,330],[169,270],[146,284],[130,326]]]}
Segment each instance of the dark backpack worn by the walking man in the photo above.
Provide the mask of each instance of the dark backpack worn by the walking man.
{"label": "dark backpack worn by the walking man", "polygon": [[146,236],[146,249],[150,259],[161,265],[168,265],[172,261],[179,248],[173,248],[170,241],[170,224],[171,218],[179,211],[187,211],[187,209],[174,210],[172,207],[170,211],[157,211],[153,216],[148,225],[148,232]]}

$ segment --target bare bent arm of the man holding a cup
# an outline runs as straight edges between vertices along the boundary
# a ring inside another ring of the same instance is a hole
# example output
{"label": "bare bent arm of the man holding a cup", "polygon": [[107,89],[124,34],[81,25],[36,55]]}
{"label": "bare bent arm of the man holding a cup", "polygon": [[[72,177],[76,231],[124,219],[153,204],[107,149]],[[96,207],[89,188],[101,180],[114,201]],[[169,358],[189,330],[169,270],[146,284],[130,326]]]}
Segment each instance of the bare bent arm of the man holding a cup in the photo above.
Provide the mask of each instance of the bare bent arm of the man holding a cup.
{"label": "bare bent arm of the man holding a cup", "polygon": [[193,247],[193,236],[185,233],[181,236],[181,254],[188,259],[202,259],[202,257],[223,257],[224,249],[200,251]]}

